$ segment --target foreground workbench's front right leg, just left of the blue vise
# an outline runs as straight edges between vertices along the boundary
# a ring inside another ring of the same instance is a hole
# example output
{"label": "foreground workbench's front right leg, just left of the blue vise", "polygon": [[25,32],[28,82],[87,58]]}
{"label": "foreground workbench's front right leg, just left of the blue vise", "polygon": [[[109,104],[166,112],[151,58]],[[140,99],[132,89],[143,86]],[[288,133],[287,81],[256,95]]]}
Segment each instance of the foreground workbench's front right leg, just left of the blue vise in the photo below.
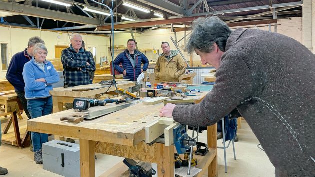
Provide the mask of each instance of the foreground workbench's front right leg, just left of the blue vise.
{"label": "foreground workbench's front right leg, just left of the blue vise", "polygon": [[157,175],[158,176],[175,176],[174,168],[174,146],[169,147],[164,144],[157,143],[157,156],[159,157],[157,163]]}

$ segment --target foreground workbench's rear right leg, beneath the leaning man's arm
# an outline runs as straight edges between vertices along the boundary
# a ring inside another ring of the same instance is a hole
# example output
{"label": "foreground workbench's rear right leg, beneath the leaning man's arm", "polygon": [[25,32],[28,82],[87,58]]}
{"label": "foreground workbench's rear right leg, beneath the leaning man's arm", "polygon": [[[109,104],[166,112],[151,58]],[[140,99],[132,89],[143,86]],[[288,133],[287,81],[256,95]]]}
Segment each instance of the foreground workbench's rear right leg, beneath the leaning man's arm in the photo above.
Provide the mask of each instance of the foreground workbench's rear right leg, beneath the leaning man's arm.
{"label": "foreground workbench's rear right leg, beneath the leaning man's arm", "polygon": [[[214,177],[217,176],[217,137],[216,137],[216,132],[217,132],[217,128],[216,128],[216,123],[214,125],[208,126],[207,127],[207,131],[208,131],[208,147],[209,148],[214,148],[215,149],[215,157],[212,160],[211,164],[208,167],[208,176],[209,177]],[[213,140],[215,139],[215,140]]]}

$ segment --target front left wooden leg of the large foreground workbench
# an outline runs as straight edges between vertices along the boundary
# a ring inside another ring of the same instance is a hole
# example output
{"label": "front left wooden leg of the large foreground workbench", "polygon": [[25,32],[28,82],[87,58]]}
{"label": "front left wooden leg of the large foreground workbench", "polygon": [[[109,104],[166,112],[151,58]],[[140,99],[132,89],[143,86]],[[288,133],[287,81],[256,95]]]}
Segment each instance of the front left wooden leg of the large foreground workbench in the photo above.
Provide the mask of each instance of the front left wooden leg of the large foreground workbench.
{"label": "front left wooden leg of the large foreground workbench", "polygon": [[95,176],[95,141],[80,139],[81,177]]}

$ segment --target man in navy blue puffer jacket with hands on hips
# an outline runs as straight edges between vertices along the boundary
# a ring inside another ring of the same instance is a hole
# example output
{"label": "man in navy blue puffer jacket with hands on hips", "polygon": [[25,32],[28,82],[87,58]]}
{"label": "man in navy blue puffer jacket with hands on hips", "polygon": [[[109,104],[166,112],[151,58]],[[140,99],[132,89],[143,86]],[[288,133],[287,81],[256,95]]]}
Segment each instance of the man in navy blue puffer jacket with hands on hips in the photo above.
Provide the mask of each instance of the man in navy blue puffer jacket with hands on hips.
{"label": "man in navy blue puffer jacket with hands on hips", "polygon": [[[140,51],[135,49],[135,40],[129,39],[128,45],[124,52],[120,53],[114,60],[115,70],[123,74],[123,79],[135,81],[135,86],[129,88],[129,92],[137,92],[141,89],[136,82],[138,76],[147,69],[149,61],[147,57]],[[119,64],[122,63],[121,68]],[[143,67],[141,68],[141,63]]]}

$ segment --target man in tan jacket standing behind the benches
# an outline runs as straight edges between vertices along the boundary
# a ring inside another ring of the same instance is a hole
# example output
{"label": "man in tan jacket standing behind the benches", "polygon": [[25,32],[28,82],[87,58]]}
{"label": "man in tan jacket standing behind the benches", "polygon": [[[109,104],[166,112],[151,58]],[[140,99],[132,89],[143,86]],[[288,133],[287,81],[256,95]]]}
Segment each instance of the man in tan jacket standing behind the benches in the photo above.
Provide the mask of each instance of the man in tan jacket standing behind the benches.
{"label": "man in tan jacket standing behind the benches", "polygon": [[170,50],[168,42],[162,42],[162,50],[154,69],[155,83],[179,82],[178,78],[186,71],[182,58],[177,50]]}

